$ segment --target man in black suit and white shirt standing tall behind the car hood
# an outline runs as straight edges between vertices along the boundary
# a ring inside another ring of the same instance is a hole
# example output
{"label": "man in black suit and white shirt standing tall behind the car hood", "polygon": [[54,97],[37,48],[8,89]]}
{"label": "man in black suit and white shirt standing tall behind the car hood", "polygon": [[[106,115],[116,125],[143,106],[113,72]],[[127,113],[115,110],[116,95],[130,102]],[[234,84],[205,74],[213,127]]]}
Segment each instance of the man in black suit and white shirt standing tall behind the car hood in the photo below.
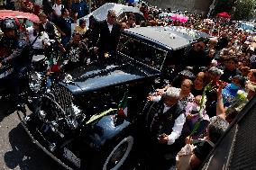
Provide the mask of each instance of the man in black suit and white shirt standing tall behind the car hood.
{"label": "man in black suit and white shirt standing tall behind the car hood", "polygon": [[106,20],[98,24],[98,60],[116,55],[120,32],[121,26],[116,22],[116,14],[114,10],[109,10]]}

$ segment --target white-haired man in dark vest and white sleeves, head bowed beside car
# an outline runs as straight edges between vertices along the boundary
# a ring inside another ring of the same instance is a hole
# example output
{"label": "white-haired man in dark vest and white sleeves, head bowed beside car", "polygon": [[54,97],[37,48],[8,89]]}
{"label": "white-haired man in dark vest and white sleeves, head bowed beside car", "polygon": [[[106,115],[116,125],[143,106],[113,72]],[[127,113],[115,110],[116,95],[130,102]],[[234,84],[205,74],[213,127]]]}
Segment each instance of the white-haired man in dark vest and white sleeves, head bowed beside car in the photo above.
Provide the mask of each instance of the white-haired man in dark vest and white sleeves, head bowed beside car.
{"label": "white-haired man in dark vest and white sleeves, head bowed beside car", "polygon": [[[158,165],[156,168],[159,169],[169,169],[169,166],[175,165],[175,157],[185,145],[186,135],[182,133],[186,121],[185,110],[178,99],[179,89],[169,87],[160,101],[147,107],[150,108],[148,115],[151,119],[147,124],[152,138],[154,165]],[[155,161],[158,163],[155,164]]]}

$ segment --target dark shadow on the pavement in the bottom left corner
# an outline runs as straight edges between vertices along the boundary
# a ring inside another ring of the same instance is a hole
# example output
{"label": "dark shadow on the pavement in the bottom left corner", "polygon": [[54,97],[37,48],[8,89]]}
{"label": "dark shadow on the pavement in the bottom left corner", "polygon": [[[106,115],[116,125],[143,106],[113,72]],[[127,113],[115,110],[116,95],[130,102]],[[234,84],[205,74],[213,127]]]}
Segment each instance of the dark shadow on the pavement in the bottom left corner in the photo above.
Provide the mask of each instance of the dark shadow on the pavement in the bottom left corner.
{"label": "dark shadow on the pavement in the bottom left corner", "polygon": [[5,165],[10,169],[19,166],[20,170],[63,170],[32,143],[21,123],[10,131],[9,141],[13,150],[5,153]]}

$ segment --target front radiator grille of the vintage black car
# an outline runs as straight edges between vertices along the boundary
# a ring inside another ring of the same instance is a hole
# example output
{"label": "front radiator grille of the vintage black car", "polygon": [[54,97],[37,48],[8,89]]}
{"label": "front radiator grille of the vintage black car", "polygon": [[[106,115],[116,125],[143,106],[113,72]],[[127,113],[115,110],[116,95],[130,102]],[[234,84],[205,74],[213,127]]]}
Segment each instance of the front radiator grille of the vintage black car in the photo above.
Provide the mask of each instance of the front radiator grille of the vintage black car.
{"label": "front radiator grille of the vintage black car", "polygon": [[67,112],[73,101],[73,95],[69,92],[69,89],[62,85],[53,85],[52,94],[54,95],[55,101],[59,103],[59,106],[64,112]]}

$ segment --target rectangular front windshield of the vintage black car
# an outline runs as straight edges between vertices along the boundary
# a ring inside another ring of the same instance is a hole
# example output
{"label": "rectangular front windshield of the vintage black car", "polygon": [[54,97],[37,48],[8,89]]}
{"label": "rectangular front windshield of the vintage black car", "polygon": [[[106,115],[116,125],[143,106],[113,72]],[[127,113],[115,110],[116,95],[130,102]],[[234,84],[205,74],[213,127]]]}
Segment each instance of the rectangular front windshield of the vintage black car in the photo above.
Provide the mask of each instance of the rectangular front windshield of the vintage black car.
{"label": "rectangular front windshield of the vintage black car", "polygon": [[118,51],[134,60],[161,70],[167,51],[151,46],[141,40],[136,40],[126,35],[122,35],[118,45]]}

